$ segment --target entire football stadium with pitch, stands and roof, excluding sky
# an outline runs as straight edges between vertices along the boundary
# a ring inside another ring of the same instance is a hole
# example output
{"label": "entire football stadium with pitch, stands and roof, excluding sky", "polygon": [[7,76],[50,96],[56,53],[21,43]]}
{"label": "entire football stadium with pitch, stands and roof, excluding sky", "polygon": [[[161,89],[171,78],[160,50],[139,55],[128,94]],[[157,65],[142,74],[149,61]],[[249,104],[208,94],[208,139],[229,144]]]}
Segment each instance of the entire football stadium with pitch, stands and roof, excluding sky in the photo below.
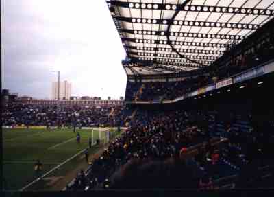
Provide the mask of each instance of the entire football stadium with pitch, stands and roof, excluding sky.
{"label": "entire football stadium with pitch, stands and roof, excluding sky", "polygon": [[126,53],[124,98],[2,91],[3,189],[273,188],[274,1],[105,6]]}

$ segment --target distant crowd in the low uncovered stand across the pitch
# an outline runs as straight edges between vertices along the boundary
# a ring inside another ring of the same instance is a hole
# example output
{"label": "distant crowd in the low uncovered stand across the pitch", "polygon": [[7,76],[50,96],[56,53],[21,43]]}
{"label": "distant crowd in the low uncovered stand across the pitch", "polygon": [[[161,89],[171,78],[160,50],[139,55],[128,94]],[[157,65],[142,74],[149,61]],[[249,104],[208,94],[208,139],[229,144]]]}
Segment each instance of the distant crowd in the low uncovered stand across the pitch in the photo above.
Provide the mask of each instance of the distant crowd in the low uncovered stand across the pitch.
{"label": "distant crowd in the low uncovered stand across the pitch", "polygon": [[114,126],[122,121],[123,106],[42,106],[7,104],[2,111],[3,126]]}

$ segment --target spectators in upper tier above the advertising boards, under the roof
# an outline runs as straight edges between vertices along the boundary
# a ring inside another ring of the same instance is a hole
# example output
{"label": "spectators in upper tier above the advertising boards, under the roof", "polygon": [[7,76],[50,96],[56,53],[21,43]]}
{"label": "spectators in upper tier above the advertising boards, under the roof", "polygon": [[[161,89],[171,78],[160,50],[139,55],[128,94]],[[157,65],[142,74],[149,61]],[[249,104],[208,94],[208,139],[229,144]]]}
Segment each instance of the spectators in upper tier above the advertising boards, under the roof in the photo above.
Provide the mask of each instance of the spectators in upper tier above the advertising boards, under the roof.
{"label": "spectators in upper tier above the advertising boards, under the roof", "polygon": [[[221,67],[215,67],[204,76],[186,78],[177,82],[127,82],[125,100],[173,100],[202,86],[212,84],[216,80],[233,76],[236,73],[267,62],[273,59],[273,53],[273,43],[265,42],[249,54],[231,58],[229,62]],[[141,87],[142,91],[140,93]]]}

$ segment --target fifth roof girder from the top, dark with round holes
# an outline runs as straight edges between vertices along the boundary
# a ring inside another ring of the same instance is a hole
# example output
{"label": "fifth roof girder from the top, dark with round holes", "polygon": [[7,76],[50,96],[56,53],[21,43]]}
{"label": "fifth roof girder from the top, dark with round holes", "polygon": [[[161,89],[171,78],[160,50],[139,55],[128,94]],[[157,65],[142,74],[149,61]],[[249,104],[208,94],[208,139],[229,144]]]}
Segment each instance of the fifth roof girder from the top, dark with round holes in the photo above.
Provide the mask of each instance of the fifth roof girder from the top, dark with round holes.
{"label": "fifth roof girder from the top, dark with round holes", "polygon": [[[130,45],[125,45],[127,49],[134,50],[146,50],[146,51],[171,51],[171,48],[163,48],[163,47],[135,47]],[[185,54],[208,54],[208,55],[222,55],[224,51],[214,51],[214,50],[199,50],[199,49],[179,49],[180,52]]]}

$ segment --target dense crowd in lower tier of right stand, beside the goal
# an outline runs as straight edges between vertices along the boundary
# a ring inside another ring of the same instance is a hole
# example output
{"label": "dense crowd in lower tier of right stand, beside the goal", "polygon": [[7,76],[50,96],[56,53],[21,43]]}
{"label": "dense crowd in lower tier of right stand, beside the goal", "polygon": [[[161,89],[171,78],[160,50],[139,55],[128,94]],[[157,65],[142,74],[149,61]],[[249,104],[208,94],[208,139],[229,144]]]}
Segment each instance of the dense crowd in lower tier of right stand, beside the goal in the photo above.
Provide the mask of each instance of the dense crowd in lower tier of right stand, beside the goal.
{"label": "dense crowd in lower tier of right stand, beside the goal", "polygon": [[[110,143],[101,157],[92,161],[90,172],[86,176],[88,183],[103,183],[105,179],[109,181],[114,171],[134,159],[165,160],[179,157],[182,146],[199,143],[206,135],[197,127],[200,124],[198,120],[190,118],[191,116],[195,117],[185,111],[136,114],[128,130]],[[92,188],[91,185],[88,187]],[[98,184],[96,187],[104,186]],[[79,187],[74,184],[68,189]]]}

